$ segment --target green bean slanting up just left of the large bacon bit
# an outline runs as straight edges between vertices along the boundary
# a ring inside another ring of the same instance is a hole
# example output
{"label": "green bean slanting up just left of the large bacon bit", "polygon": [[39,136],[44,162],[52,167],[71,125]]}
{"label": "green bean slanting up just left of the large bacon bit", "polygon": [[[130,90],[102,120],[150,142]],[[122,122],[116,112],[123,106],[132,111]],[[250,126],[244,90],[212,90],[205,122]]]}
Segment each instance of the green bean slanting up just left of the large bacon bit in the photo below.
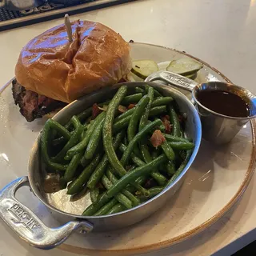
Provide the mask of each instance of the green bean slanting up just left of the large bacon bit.
{"label": "green bean slanting up just left of the large bacon bit", "polygon": [[[151,122],[150,124],[146,125],[141,131],[138,132],[134,136],[134,138],[130,141],[129,145],[126,148],[126,152],[122,155],[120,164],[121,166],[126,166],[126,163],[128,162],[130,158],[131,152],[134,150],[134,146],[138,143],[140,139],[142,139],[147,133],[150,132],[154,127],[160,126],[162,121],[160,119],[154,120],[154,122]],[[114,167],[114,162],[112,163],[112,166]],[[122,172],[124,174],[124,172]],[[122,176],[122,174],[120,176]]]}

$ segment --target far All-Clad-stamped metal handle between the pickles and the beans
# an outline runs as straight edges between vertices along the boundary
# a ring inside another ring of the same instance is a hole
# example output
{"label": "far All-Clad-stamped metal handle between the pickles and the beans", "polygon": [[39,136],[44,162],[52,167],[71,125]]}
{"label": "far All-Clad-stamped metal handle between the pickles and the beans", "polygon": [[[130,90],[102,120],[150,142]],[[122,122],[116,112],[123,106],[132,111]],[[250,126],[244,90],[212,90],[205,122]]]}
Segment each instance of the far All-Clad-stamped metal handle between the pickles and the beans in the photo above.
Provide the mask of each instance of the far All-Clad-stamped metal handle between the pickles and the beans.
{"label": "far All-Clad-stamped metal handle between the pickles and the beans", "polygon": [[154,74],[150,74],[150,76],[145,79],[145,82],[154,82],[156,80],[162,80],[170,83],[171,85],[189,91],[192,91],[194,86],[198,86],[198,82],[194,82],[194,80],[191,80],[190,78],[183,77],[179,74],[174,74],[170,71],[158,71]]}

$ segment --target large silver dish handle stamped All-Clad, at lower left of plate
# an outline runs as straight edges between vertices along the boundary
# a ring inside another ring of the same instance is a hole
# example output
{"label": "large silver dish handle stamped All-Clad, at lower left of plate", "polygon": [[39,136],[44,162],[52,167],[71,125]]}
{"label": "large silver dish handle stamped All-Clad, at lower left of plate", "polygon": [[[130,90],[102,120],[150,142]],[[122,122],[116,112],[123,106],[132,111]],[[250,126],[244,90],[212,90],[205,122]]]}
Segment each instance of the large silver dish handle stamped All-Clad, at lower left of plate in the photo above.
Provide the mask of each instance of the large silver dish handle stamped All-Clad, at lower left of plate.
{"label": "large silver dish handle stamped All-Clad, at lower left of plate", "polygon": [[48,250],[64,242],[74,230],[81,229],[82,233],[87,233],[93,229],[90,222],[78,220],[58,228],[47,227],[15,198],[16,191],[22,186],[30,186],[27,176],[17,178],[0,190],[0,218],[31,246]]}

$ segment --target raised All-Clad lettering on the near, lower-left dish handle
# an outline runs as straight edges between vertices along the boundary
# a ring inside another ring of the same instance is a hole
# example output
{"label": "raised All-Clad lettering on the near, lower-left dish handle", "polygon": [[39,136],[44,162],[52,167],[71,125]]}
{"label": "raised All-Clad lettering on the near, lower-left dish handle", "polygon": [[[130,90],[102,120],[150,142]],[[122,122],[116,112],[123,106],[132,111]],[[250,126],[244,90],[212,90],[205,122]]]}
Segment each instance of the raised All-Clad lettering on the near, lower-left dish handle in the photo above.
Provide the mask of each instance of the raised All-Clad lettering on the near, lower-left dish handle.
{"label": "raised All-Clad lettering on the near, lower-left dish handle", "polygon": [[33,232],[35,228],[40,226],[40,224],[17,203],[11,206],[8,210],[15,217],[11,218],[11,221],[14,222],[15,225],[22,224],[30,230],[30,232]]}

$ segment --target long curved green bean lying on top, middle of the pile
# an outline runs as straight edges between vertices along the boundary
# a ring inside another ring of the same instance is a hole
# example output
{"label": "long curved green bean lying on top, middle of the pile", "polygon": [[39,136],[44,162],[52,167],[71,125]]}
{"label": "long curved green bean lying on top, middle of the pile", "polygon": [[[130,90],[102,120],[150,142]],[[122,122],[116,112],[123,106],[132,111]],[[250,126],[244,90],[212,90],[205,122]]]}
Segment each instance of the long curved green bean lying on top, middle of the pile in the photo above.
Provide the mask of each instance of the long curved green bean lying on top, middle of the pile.
{"label": "long curved green bean lying on top, middle of the pile", "polygon": [[117,154],[114,151],[114,146],[112,142],[112,134],[113,134],[113,121],[114,121],[114,113],[118,109],[120,102],[122,102],[122,98],[124,98],[127,91],[126,86],[121,86],[118,92],[112,98],[109,107],[106,111],[106,118],[103,126],[103,144],[105,147],[105,151],[107,157],[109,158],[109,162],[114,169],[121,174],[126,174],[126,170],[122,166],[122,163],[119,161]]}

